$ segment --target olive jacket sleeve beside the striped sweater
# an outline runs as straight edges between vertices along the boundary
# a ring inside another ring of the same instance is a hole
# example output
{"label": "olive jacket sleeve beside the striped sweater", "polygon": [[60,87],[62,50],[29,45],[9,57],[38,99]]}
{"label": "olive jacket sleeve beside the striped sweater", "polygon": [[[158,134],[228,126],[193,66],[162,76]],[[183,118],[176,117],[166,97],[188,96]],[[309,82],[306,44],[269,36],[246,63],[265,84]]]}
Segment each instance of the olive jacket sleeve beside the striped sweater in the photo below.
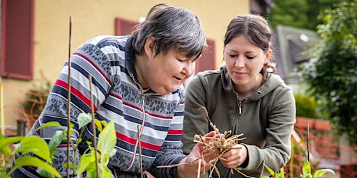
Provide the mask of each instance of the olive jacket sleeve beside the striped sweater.
{"label": "olive jacket sleeve beside the striped sweater", "polygon": [[187,86],[185,95],[185,117],[183,119],[183,153],[190,154],[196,145],[195,134],[204,136],[208,133],[209,123],[202,106],[207,108],[204,77],[197,74]]}

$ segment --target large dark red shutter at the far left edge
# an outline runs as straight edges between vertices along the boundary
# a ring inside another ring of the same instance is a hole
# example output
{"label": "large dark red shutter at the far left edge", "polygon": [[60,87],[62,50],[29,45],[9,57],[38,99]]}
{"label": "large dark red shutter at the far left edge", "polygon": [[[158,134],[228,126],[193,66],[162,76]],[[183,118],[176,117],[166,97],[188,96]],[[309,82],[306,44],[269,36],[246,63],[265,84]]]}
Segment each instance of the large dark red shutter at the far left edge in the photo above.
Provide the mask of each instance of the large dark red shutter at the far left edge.
{"label": "large dark red shutter at the far left edge", "polygon": [[1,4],[1,76],[33,78],[33,0]]}

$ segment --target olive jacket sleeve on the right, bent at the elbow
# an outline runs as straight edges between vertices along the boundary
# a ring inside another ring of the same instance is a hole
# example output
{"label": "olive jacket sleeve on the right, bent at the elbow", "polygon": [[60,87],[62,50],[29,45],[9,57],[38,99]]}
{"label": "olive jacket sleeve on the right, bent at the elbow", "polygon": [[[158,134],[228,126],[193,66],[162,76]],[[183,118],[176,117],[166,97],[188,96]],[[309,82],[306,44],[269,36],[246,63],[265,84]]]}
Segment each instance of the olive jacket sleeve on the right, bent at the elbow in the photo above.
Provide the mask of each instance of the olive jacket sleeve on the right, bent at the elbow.
{"label": "olive jacket sleeve on the right, bent at the elbow", "polygon": [[278,171],[287,164],[291,154],[291,134],[296,122],[294,95],[285,86],[278,91],[271,103],[271,111],[267,115],[269,124],[264,148],[245,145],[248,149],[249,161],[242,170],[256,173],[257,176],[261,176],[261,172],[269,175],[264,164],[273,171]]}

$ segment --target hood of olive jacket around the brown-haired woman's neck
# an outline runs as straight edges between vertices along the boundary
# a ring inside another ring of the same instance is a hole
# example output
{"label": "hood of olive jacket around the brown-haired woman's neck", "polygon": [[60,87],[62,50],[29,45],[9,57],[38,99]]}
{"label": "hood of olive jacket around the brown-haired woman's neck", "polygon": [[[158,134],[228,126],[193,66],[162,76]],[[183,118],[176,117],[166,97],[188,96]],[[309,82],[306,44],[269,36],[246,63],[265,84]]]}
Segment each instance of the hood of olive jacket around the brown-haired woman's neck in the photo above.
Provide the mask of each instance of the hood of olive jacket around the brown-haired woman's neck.
{"label": "hood of olive jacket around the brown-haired woman's neck", "polygon": [[[228,74],[227,66],[222,65],[220,67],[220,71],[222,74],[222,84],[223,84],[224,88],[227,90],[234,90],[234,87],[233,87],[234,83]],[[260,99],[261,97],[264,97],[265,95],[267,95],[269,92],[271,92],[278,86],[285,85],[282,78],[280,76],[278,76],[277,74],[268,73],[266,78],[267,79],[266,79],[266,81],[264,81],[263,85],[261,85],[257,90],[255,90],[254,93],[252,93],[249,97],[247,97],[246,98],[247,100],[257,101],[258,99]]]}

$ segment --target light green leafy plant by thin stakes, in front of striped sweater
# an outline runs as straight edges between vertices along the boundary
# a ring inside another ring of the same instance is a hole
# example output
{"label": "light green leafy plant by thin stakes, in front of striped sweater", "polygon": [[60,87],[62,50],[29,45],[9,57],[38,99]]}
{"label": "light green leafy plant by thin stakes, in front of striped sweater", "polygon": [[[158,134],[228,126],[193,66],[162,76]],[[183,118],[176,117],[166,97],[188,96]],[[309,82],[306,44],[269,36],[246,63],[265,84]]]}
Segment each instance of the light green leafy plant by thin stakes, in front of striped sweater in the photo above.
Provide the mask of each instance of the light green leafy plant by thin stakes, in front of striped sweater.
{"label": "light green leafy plant by thin stakes, in front of striped sweater", "polygon": [[[87,124],[91,122],[91,114],[86,114],[86,113],[79,113],[78,118],[77,118],[78,124],[79,124],[79,129],[82,129],[83,127],[86,127]],[[107,168],[107,164],[109,163],[109,158],[114,156],[116,149],[114,149],[114,146],[116,144],[116,135],[115,135],[115,128],[114,128],[114,122],[111,121],[108,124],[105,121],[99,121],[95,120],[96,124],[98,125],[98,130],[100,131],[99,138],[98,138],[98,152],[95,152],[95,149],[91,147],[92,143],[88,143],[89,149],[83,154],[79,160],[78,167],[76,168],[76,163],[73,163],[73,165],[70,165],[70,168],[74,168],[74,170],[77,170],[75,173],[76,175],[82,175],[84,171],[86,171],[86,177],[114,177],[112,175],[112,171]],[[104,125],[105,128],[103,129],[102,126]],[[46,124],[43,124],[41,127],[38,129],[41,129],[43,127],[51,127],[51,126],[56,126],[56,127],[61,127],[59,122],[47,122]],[[70,134],[73,133],[73,127],[74,125],[71,123],[70,127]],[[82,129],[83,131],[84,129]],[[52,136],[52,139],[49,143],[49,147],[51,150],[51,156],[53,157],[55,154],[54,149],[61,143],[63,139],[66,139],[66,133],[67,129],[59,130],[56,131],[54,136]],[[82,133],[80,133],[79,138],[77,139],[77,144],[79,144],[82,140],[80,139],[82,136]],[[73,145],[74,149],[77,149],[76,145]],[[98,162],[96,162],[96,154],[98,157]],[[98,165],[98,173],[100,175],[97,176],[96,173],[96,168]],[[66,166],[66,165],[65,165]],[[38,168],[36,170],[41,176],[43,177],[52,177],[50,172],[47,172],[41,168]]]}

